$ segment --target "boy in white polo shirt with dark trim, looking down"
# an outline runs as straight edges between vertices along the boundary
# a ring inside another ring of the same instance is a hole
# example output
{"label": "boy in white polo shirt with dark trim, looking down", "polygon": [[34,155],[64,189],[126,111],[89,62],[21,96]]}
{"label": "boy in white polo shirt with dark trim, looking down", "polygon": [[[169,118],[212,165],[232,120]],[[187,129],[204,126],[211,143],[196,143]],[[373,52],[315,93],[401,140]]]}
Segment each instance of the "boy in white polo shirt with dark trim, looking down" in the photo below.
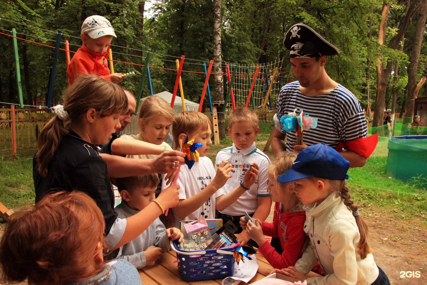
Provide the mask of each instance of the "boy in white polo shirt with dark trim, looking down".
{"label": "boy in white polo shirt with dark trim, looking down", "polygon": [[216,155],[215,169],[223,161],[234,166],[235,172],[220,190],[224,194],[236,188],[247,171],[251,162],[256,162],[260,169],[257,181],[249,187],[249,191],[242,194],[239,199],[221,212],[216,212],[216,218],[223,223],[231,220],[241,232],[237,237],[241,243],[249,241],[246,231],[242,231],[240,217],[245,211],[256,219],[265,220],[270,214],[272,200],[267,190],[268,165],[270,159],[255,146],[254,139],[258,135],[258,118],[254,110],[244,107],[235,109],[228,120],[228,133],[233,139],[233,145],[222,149]]}

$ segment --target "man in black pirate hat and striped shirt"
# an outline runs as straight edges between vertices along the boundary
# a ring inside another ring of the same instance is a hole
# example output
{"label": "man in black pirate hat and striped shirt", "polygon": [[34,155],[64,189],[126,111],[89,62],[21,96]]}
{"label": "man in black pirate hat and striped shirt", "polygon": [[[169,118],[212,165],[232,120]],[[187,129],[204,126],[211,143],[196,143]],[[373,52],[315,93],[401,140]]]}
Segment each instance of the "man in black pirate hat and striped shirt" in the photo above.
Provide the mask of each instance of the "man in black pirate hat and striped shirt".
{"label": "man in black pirate hat and striped shirt", "polygon": [[[365,165],[376,146],[375,138],[366,138],[366,119],[357,98],[325,71],[327,56],[339,50],[305,24],[293,25],[283,44],[290,50],[292,73],[298,80],[281,88],[274,117],[273,152],[299,152],[309,145],[325,143],[340,151],[350,167]],[[280,122],[295,109],[318,118],[316,129],[304,130],[302,145],[296,144],[296,133],[285,132]]]}

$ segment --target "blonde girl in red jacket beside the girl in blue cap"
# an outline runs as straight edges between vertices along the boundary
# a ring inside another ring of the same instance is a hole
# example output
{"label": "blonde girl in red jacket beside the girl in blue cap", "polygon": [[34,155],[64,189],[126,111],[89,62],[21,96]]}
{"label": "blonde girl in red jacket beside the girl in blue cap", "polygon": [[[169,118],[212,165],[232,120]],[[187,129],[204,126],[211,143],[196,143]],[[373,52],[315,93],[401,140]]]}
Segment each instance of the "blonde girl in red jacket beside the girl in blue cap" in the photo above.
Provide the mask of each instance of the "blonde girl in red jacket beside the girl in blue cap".
{"label": "blonde girl in red jacket beside the girl in blue cap", "polygon": [[[305,211],[293,190],[293,183],[278,183],[277,178],[289,170],[296,154],[278,153],[268,167],[270,196],[275,202],[273,222],[256,219],[256,225],[245,217],[240,218],[240,225],[247,234],[259,245],[259,252],[274,268],[295,265],[301,253],[307,234],[304,232]],[[283,253],[275,251],[264,235],[278,237]]]}

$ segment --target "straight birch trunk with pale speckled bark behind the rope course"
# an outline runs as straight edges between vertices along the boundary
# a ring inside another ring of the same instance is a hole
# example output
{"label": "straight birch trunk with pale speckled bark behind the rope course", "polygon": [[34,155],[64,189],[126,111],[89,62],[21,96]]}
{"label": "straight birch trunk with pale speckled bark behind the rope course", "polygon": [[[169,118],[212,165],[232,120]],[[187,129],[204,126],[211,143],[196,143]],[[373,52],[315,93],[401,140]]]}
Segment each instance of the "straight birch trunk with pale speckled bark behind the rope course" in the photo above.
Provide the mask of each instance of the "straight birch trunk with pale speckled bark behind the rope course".
{"label": "straight birch trunk with pale speckled bark behind the rope course", "polygon": [[[221,4],[222,0],[213,1],[213,67],[212,72],[215,74],[214,77],[214,90],[215,90],[215,101],[224,101],[224,82],[222,77],[222,41],[221,41]],[[225,138],[225,116],[222,110],[218,110],[218,128],[219,138]]]}

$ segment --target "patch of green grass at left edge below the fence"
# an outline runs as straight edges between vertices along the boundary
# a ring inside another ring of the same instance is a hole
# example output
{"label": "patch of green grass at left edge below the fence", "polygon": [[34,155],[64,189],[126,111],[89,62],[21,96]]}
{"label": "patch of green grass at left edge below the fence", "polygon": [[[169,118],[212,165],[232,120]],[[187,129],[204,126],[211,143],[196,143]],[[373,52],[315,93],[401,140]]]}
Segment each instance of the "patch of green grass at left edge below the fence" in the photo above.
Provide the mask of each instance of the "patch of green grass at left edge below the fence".
{"label": "patch of green grass at left edge below the fence", "polygon": [[0,159],[0,201],[9,209],[33,204],[32,156]]}

